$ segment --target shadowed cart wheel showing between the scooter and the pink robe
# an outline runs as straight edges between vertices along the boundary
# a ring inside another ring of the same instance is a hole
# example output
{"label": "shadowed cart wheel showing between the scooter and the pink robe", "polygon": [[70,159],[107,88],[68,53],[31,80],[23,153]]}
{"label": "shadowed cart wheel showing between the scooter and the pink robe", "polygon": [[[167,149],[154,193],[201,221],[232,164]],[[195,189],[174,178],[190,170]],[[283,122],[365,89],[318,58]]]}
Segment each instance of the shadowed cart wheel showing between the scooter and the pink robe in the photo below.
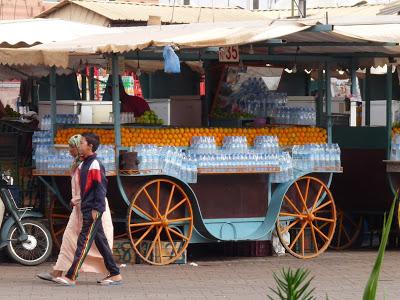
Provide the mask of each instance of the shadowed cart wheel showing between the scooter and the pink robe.
{"label": "shadowed cart wheel showing between the scooter and the pink robe", "polygon": [[65,208],[56,198],[52,198],[49,209],[50,233],[54,245],[60,249],[62,237],[68,224],[71,210]]}

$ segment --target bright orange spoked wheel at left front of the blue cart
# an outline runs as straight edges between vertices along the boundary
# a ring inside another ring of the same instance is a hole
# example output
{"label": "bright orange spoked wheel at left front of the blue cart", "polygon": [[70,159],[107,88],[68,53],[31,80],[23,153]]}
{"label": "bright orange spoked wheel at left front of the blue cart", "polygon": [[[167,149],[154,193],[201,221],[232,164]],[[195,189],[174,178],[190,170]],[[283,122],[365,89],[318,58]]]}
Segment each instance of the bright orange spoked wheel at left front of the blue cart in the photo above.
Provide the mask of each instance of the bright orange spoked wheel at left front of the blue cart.
{"label": "bright orange spoked wheel at left front of the blue cart", "polygon": [[132,199],[127,224],[131,245],[142,260],[152,265],[173,263],[192,236],[189,196],[171,180],[149,181]]}

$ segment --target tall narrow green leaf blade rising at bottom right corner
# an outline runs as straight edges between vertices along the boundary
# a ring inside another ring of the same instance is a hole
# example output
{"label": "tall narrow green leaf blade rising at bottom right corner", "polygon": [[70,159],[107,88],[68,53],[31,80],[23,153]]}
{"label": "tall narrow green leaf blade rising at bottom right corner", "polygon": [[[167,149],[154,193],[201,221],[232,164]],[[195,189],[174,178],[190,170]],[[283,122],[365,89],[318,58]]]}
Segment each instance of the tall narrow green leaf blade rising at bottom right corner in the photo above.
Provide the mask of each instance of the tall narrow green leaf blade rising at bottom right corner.
{"label": "tall narrow green leaf blade rising at bottom right corner", "polygon": [[383,257],[385,255],[386,245],[387,245],[387,242],[389,239],[389,233],[390,233],[390,229],[391,229],[392,222],[393,222],[394,208],[396,206],[397,201],[398,201],[398,191],[396,192],[396,194],[394,196],[392,206],[390,207],[390,212],[389,212],[387,219],[386,219],[386,214],[384,216],[382,240],[379,245],[379,252],[378,252],[378,256],[375,260],[374,268],[372,269],[371,275],[370,275],[367,285],[364,289],[363,300],[375,300],[375,298],[376,298],[379,274],[380,274],[381,267],[382,267]]}

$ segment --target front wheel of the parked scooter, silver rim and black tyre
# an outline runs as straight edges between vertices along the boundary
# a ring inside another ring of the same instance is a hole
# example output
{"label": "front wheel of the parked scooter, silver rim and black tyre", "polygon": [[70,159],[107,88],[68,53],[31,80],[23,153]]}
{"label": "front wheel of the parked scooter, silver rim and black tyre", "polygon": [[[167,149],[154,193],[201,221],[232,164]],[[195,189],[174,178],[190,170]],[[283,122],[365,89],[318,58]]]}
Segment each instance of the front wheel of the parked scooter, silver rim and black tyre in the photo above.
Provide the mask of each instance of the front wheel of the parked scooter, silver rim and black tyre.
{"label": "front wheel of the parked scooter, silver rim and black tyre", "polygon": [[26,241],[19,241],[21,235],[18,226],[13,225],[8,232],[7,252],[16,262],[26,266],[36,266],[47,260],[51,254],[53,241],[49,230],[42,223],[25,219],[22,225],[28,235]]}

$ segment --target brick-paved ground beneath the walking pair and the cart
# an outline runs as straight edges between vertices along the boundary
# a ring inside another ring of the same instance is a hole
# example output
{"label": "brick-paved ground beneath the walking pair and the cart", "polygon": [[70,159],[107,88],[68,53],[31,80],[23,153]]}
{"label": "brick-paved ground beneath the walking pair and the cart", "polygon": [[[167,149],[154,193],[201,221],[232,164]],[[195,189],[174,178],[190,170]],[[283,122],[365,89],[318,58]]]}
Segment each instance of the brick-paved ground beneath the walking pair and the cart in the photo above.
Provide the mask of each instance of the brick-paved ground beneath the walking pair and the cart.
{"label": "brick-paved ground beneath the walking pair and the cart", "polygon": [[[361,299],[376,257],[375,251],[328,252],[301,261],[292,257],[241,258],[197,261],[153,267],[128,265],[122,286],[100,287],[97,276],[82,275],[76,287],[56,286],[35,279],[51,264],[24,267],[0,263],[0,299],[266,299],[274,286],[272,272],[304,267],[315,276],[317,299]],[[389,251],[379,282],[377,299],[400,299],[400,251]]]}

